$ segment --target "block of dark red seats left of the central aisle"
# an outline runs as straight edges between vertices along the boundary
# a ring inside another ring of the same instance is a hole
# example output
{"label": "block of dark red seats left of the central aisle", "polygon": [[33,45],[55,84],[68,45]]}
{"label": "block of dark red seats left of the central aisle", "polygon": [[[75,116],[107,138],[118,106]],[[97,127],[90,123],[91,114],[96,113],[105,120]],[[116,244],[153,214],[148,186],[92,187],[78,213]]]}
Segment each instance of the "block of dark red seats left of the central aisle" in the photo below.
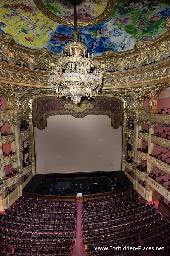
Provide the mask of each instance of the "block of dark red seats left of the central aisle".
{"label": "block of dark red seats left of the central aisle", "polygon": [[8,251],[12,245],[14,255],[71,255],[76,238],[76,211],[76,201],[20,197],[1,214],[2,249]]}

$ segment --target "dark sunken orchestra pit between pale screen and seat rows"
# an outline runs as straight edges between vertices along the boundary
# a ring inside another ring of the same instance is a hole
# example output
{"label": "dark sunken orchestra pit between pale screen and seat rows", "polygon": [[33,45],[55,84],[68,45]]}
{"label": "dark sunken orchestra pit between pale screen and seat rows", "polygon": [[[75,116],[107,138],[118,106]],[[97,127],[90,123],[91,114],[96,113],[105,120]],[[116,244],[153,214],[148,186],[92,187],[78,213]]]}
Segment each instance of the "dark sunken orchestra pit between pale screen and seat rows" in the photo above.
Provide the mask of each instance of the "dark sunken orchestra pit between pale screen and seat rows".
{"label": "dark sunken orchestra pit between pale screen and seat rows", "polygon": [[[56,184],[60,184],[57,187]],[[69,184],[67,187],[66,184]],[[91,195],[133,186],[122,171],[74,173],[74,174],[36,174],[23,188],[23,192],[42,195],[72,196],[77,193]]]}

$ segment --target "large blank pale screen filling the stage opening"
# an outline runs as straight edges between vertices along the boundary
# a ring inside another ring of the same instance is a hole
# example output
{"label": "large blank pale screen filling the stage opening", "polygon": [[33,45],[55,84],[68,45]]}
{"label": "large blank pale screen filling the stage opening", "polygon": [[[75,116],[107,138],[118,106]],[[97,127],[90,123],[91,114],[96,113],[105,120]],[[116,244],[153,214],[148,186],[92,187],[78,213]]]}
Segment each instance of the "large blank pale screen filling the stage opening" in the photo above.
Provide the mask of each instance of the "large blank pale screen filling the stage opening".
{"label": "large blank pale screen filling the stage opening", "polygon": [[121,170],[122,127],[108,116],[49,116],[34,135],[37,174]]}

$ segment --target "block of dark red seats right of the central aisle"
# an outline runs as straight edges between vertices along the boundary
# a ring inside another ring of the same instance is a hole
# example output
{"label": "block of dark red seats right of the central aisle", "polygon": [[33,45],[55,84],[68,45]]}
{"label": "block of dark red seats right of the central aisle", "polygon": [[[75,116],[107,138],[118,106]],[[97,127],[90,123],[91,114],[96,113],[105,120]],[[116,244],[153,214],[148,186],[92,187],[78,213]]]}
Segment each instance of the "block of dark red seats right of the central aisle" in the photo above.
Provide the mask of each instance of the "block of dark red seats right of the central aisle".
{"label": "block of dark red seats right of the central aisle", "polygon": [[[117,245],[138,247],[141,239],[145,242],[145,234],[157,230],[160,232],[154,236],[153,242],[158,241],[162,234],[167,248],[169,232],[166,237],[165,228],[169,228],[167,218],[160,218],[156,213],[154,204],[147,204],[146,200],[139,197],[134,190],[113,197],[102,199],[84,200],[82,203],[83,241],[88,256],[106,255],[103,251],[96,251],[94,247],[109,247]],[[139,239],[139,234],[141,239]],[[160,236],[159,236],[160,234]],[[148,242],[150,240],[148,239]],[[147,242],[146,242],[147,243]],[[141,255],[141,251],[128,252],[128,254],[116,251],[107,251],[107,255]]]}

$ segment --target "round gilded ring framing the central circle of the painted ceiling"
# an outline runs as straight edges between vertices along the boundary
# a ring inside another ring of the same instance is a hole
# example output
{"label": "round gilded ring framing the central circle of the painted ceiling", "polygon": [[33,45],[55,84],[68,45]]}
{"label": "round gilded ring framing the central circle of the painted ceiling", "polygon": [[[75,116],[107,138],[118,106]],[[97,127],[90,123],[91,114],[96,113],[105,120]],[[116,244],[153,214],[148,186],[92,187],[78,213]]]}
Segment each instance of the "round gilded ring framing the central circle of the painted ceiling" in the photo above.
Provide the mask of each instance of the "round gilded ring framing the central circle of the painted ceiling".
{"label": "round gilded ring framing the central circle of the painted ceiling", "polygon": [[[61,17],[53,14],[51,11],[49,11],[46,8],[46,6],[43,4],[42,0],[34,0],[34,3],[37,6],[37,8],[49,19],[51,19],[59,24],[62,24],[64,26],[74,27],[74,20],[72,21],[72,20],[68,20],[68,19],[62,19]],[[106,20],[113,12],[115,3],[116,3],[115,0],[108,0],[107,6],[106,6],[104,12],[102,12],[99,17],[96,17],[91,20],[77,21],[78,27],[90,27],[90,26],[99,24],[100,22]]]}

